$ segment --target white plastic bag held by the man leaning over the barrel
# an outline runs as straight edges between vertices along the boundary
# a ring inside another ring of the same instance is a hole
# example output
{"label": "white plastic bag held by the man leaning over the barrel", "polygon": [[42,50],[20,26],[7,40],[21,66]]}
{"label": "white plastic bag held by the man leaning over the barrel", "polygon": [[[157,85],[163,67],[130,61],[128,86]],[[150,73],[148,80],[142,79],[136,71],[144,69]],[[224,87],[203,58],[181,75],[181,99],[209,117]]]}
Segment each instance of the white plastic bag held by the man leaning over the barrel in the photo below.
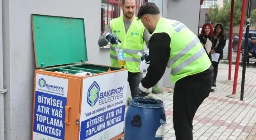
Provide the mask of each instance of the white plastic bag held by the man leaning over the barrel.
{"label": "white plastic bag held by the man leaning over the barrel", "polygon": [[149,67],[149,51],[144,52],[141,54],[140,52],[137,54],[138,56],[141,57],[140,65],[139,65],[139,70],[141,73],[147,73],[148,67]]}

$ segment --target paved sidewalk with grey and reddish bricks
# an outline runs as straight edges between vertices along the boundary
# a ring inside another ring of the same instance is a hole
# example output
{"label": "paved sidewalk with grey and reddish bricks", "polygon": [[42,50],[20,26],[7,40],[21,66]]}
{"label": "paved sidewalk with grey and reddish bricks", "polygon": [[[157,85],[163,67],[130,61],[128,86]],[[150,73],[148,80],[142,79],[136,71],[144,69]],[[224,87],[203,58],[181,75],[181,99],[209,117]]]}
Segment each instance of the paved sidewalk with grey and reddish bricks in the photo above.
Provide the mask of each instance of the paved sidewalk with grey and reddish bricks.
{"label": "paved sidewalk with grey and reddish bricks", "polygon": [[[233,65],[232,80],[234,70]],[[241,75],[242,67],[239,67],[237,95],[240,95]],[[219,64],[215,92],[210,93],[194,117],[194,140],[246,140],[256,123],[256,69],[247,68],[245,85],[244,101],[226,97],[232,94],[233,81],[228,81],[228,65]],[[165,103],[165,140],[175,140],[172,122],[173,95],[163,93],[154,94],[154,97]],[[252,134],[256,135],[255,133],[256,130],[253,130]],[[256,140],[252,136],[248,138]]]}

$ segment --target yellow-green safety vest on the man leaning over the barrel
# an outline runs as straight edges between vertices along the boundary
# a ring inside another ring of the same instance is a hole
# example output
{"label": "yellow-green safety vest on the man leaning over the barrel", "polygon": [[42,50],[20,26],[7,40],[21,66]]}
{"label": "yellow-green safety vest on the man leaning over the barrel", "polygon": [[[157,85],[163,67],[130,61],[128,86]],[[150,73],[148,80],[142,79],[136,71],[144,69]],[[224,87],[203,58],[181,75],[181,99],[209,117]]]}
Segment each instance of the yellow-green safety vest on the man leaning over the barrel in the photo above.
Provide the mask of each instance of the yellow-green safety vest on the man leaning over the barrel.
{"label": "yellow-green safety vest on the man leaning over the barrel", "polygon": [[203,72],[211,66],[211,61],[200,40],[183,23],[161,18],[153,34],[163,32],[171,38],[170,58],[166,67],[171,68],[172,83]]}

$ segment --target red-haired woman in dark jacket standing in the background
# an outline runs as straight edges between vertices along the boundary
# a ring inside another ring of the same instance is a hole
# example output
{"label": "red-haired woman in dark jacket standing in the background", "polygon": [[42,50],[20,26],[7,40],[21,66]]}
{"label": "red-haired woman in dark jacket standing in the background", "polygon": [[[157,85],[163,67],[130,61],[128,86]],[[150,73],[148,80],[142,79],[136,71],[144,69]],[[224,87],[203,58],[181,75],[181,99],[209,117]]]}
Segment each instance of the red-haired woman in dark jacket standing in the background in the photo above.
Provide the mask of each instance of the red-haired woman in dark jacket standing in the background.
{"label": "red-haired woman in dark jacket standing in the background", "polygon": [[[200,42],[202,43],[205,51],[206,51],[206,48],[205,48],[205,44],[207,42],[207,39],[209,39],[212,43],[212,48],[213,49],[213,41],[214,41],[214,37],[212,37],[212,34],[213,34],[213,28],[212,28],[212,25],[209,24],[209,23],[206,23],[203,25],[203,28],[202,28],[202,31],[201,31],[201,34],[198,36]],[[206,51],[207,53],[207,51]],[[207,53],[208,56],[209,56],[209,59],[212,61],[212,56],[211,56],[211,53]],[[214,89],[211,89],[211,92],[214,92]]]}

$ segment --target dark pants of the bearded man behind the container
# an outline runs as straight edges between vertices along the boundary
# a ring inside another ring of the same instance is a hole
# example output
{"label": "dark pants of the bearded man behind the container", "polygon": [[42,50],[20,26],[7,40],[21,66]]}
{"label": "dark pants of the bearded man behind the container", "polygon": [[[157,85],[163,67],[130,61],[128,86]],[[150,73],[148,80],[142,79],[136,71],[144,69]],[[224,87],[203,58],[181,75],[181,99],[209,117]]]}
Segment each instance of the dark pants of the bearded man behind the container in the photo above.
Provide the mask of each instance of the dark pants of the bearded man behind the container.
{"label": "dark pants of the bearded man behind the container", "polygon": [[128,82],[129,82],[132,98],[138,97],[136,88],[139,86],[142,78],[143,78],[143,75],[140,72],[136,72],[136,73],[128,72]]}

